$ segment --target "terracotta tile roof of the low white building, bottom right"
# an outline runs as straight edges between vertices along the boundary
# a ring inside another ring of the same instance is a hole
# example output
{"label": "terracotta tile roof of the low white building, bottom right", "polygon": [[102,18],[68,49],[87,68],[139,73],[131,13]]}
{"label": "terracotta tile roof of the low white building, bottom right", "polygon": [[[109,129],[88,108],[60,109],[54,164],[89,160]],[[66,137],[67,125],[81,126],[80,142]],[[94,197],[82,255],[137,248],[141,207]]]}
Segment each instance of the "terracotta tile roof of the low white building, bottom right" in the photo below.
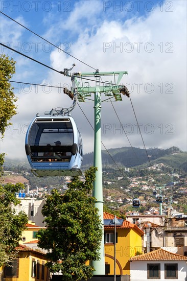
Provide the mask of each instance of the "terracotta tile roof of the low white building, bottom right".
{"label": "terracotta tile roof of the low white building, bottom right", "polygon": [[187,261],[187,256],[158,249],[147,254],[132,256],[130,261]]}

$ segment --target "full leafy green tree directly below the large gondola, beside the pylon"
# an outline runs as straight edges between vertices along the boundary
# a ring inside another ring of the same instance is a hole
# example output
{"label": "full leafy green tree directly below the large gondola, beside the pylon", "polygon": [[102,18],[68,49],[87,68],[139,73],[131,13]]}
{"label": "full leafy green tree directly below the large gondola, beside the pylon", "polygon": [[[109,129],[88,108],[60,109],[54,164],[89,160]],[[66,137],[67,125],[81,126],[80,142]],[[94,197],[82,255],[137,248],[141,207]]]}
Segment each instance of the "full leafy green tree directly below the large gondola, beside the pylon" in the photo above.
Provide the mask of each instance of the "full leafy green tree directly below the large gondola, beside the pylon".
{"label": "full leafy green tree directly below the large gondola, beside the pylon", "polygon": [[37,233],[38,246],[47,250],[50,271],[62,272],[61,280],[87,280],[94,268],[85,263],[99,259],[102,226],[90,195],[96,170],[90,167],[84,182],[74,177],[64,195],[54,189],[42,207],[46,229]]}

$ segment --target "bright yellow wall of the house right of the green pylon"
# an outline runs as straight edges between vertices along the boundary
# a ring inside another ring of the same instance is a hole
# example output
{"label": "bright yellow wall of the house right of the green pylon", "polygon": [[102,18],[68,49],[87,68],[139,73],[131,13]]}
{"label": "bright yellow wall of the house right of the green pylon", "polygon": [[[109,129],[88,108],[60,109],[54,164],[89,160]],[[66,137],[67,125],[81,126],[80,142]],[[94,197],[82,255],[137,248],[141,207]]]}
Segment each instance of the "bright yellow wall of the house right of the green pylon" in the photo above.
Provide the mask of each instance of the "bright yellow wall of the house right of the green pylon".
{"label": "bright yellow wall of the house right of the green pylon", "polygon": [[[112,231],[108,231],[112,232]],[[116,274],[130,274],[130,257],[142,249],[142,237],[133,229],[116,229],[118,243],[115,246]],[[110,273],[114,274],[114,245],[105,244],[105,263],[110,265]]]}

